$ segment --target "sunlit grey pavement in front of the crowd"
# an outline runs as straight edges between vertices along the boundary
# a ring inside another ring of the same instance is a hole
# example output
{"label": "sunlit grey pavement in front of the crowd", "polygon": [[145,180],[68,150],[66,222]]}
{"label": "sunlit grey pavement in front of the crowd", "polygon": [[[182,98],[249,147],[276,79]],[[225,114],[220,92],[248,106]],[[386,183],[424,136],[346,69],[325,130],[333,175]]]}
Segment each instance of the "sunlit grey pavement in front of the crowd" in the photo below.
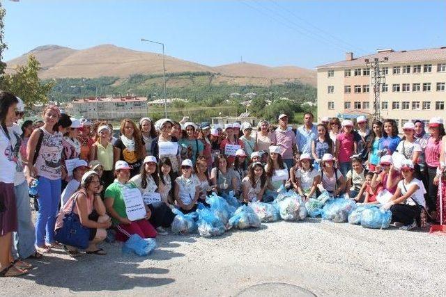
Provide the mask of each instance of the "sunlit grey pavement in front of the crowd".
{"label": "sunlit grey pavement in front of the crowd", "polygon": [[446,295],[446,236],[420,230],[307,219],[157,243],[147,258],[122,255],[119,243],[105,243],[106,256],[54,252],[30,275],[1,279],[0,294],[299,296],[302,287],[317,296]]}

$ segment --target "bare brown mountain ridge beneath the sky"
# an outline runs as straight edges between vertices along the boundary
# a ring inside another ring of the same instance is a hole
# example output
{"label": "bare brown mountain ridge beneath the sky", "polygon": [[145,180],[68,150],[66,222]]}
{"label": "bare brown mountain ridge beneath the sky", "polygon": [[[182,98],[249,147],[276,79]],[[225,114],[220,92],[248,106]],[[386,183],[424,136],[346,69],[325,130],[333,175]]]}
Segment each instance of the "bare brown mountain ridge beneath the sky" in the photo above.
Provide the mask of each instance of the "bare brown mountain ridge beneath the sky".
{"label": "bare brown mountain ridge beneath the sky", "polygon": [[[40,78],[129,77],[131,74],[161,74],[162,54],[134,51],[115,45],[98,45],[89,49],[70,49],[58,45],[36,47],[7,62],[7,72],[24,65],[28,54],[36,56],[42,66]],[[316,86],[316,72],[295,66],[268,67],[252,63],[234,63],[210,67],[165,57],[166,72],[211,72],[215,79],[229,84],[265,86],[299,80]]]}

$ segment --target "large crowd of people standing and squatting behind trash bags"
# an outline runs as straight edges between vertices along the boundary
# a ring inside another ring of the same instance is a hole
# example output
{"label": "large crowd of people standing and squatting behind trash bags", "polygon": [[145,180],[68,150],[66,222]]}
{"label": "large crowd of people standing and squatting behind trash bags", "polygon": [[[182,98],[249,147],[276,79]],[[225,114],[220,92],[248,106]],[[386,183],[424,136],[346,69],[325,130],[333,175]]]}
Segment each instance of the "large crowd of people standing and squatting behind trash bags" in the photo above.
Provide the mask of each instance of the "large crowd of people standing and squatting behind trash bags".
{"label": "large crowd of people standing and squatting behind trash bags", "polygon": [[[188,214],[213,192],[233,191],[245,204],[272,202],[283,187],[304,200],[328,191],[334,198],[378,204],[387,195],[380,207],[390,209],[403,230],[435,223],[440,213],[446,219],[439,206],[446,188],[441,118],[432,118],[427,131],[421,120],[406,122],[402,138],[394,120],[359,116],[355,123],[322,118],[315,124],[312,113],[305,113],[298,129],[285,114],[277,126],[261,120],[256,127],[123,119],[114,137],[109,122],[75,119],[54,105],[45,106],[42,121],[23,122],[23,116],[22,100],[1,92],[1,276],[28,273],[26,259],[45,257],[53,248],[82,255],[57,241],[68,216],[88,231],[85,252],[105,255],[98,243],[111,235],[126,241],[132,234],[167,234],[171,209]],[[400,166],[394,152],[403,156]],[[35,223],[30,189],[36,191]],[[126,210],[131,191],[139,191],[146,204],[139,220],[130,220]]]}

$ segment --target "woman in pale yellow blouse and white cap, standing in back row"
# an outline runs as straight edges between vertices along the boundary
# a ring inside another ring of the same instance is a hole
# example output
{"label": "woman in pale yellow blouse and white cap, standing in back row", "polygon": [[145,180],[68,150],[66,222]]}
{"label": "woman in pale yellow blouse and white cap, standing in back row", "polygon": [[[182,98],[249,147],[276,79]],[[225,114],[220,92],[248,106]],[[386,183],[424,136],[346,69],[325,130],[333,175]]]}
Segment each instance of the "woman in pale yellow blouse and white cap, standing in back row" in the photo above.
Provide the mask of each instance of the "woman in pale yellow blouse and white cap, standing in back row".
{"label": "woman in pale yellow blouse and white cap, standing in back row", "polygon": [[90,160],[98,160],[102,165],[102,181],[104,187],[107,188],[114,181],[113,165],[114,165],[114,150],[110,142],[110,135],[112,129],[107,123],[102,123],[96,132],[96,142],[91,146]]}

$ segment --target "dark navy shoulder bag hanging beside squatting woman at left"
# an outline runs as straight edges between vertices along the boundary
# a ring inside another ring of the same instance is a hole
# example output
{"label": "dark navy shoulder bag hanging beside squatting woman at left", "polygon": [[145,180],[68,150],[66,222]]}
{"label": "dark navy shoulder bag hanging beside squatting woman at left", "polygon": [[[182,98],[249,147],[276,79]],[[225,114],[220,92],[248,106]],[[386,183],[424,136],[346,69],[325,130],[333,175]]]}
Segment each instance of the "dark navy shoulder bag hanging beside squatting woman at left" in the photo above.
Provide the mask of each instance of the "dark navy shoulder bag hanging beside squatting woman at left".
{"label": "dark navy shoulder bag hanging beside squatting woman at left", "polygon": [[63,226],[56,230],[54,239],[68,246],[86,249],[89,247],[90,228],[84,227],[79,216],[72,211],[76,200],[77,196],[72,200],[70,214],[66,214],[65,218],[63,218]]}

